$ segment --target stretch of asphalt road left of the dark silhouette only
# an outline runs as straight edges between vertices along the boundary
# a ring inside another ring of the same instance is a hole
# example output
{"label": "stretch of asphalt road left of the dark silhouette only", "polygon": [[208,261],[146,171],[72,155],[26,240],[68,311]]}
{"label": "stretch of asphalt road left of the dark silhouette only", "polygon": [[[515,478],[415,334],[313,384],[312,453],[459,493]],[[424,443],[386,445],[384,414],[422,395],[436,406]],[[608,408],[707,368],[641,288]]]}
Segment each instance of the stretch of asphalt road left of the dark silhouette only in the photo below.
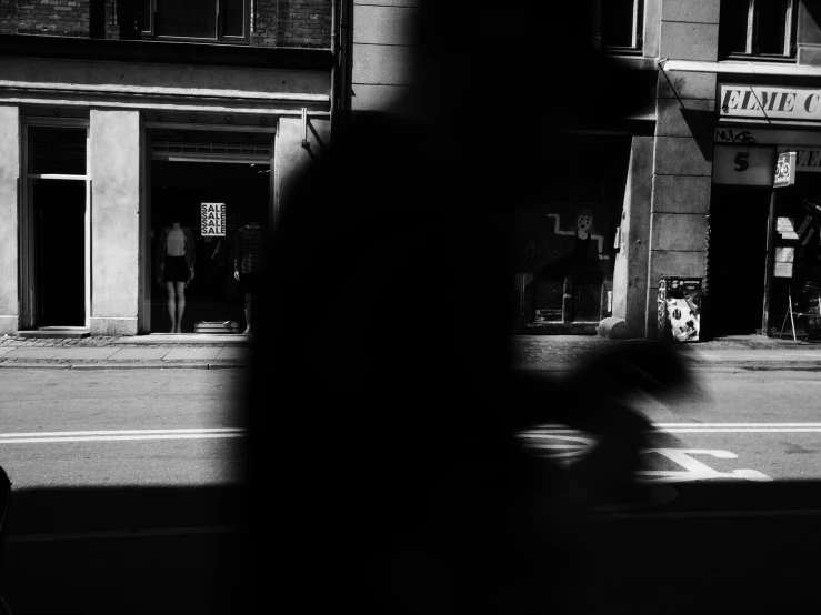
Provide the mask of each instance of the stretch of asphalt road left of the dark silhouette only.
{"label": "stretch of asphalt road left of the dark silhouette only", "polygon": [[241,612],[238,371],[0,374],[22,613]]}

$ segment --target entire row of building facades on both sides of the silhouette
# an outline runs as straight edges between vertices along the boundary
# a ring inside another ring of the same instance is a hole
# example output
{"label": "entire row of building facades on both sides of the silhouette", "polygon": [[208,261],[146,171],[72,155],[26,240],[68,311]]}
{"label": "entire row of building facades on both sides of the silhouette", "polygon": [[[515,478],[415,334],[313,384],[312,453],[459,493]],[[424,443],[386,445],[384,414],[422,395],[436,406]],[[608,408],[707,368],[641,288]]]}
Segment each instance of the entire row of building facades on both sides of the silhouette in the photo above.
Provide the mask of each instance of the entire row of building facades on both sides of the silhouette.
{"label": "entire row of building facades on both sides of the silhouette", "polygon": [[[334,119],[396,111],[418,77],[418,0],[174,6],[0,3],[0,333],[167,329],[157,236],[180,209],[199,229],[203,203],[224,204],[227,234],[197,236],[189,327],[241,321],[231,233],[273,228]],[[584,118],[549,119],[512,332],[655,337],[661,281],[683,276],[703,302],[680,324],[778,333],[790,289],[821,273],[819,2],[588,8],[620,81]],[[782,152],[797,179],[773,189]]]}

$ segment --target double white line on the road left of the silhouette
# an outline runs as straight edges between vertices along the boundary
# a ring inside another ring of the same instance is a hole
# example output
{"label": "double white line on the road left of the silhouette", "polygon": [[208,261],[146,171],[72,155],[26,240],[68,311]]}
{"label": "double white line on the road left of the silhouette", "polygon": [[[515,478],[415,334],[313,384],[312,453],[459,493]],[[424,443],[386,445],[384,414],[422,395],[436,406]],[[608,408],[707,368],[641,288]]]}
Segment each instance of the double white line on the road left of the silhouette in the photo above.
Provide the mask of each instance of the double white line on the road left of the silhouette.
{"label": "double white line on the road left of the silhouette", "polygon": [[242,437],[239,427],[186,430],[104,430],[86,432],[0,433],[0,444],[42,444],[51,442],[107,442],[117,440],[203,440]]}

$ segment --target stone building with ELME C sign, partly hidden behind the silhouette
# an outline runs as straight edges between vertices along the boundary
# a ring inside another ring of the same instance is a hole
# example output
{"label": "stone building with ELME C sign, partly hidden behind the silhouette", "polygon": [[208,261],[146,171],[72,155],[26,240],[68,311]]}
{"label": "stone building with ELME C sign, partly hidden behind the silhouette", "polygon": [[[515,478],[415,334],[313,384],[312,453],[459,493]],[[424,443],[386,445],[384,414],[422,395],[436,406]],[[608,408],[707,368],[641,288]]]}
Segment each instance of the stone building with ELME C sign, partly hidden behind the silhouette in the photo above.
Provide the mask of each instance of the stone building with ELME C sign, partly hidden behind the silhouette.
{"label": "stone building with ELME C sign, partly hidden behind the silhouette", "polygon": [[[588,8],[591,44],[621,73],[601,109],[629,103],[604,123],[595,112],[570,125],[553,118],[564,137],[547,154],[550,189],[519,213],[512,332],[605,323],[607,334],[652,339],[661,281],[681,276],[701,283],[702,301],[675,314],[680,333],[694,321],[702,339],[780,334],[789,290],[810,296],[821,283],[821,2]],[[347,10],[349,110],[388,109],[414,79],[403,32],[418,2],[351,0]],[[561,83],[555,91],[564,95]],[[773,189],[787,151],[795,185]]]}

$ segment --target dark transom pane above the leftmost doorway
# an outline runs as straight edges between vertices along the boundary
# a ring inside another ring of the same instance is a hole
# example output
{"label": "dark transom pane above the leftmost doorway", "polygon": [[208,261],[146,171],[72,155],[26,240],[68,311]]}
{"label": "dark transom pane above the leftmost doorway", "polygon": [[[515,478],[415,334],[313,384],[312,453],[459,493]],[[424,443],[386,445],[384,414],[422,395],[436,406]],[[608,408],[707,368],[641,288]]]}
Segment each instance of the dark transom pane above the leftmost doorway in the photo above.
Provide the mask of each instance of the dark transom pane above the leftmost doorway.
{"label": "dark transom pane above the leftmost doorway", "polygon": [[86,129],[29,127],[29,173],[86,174]]}

